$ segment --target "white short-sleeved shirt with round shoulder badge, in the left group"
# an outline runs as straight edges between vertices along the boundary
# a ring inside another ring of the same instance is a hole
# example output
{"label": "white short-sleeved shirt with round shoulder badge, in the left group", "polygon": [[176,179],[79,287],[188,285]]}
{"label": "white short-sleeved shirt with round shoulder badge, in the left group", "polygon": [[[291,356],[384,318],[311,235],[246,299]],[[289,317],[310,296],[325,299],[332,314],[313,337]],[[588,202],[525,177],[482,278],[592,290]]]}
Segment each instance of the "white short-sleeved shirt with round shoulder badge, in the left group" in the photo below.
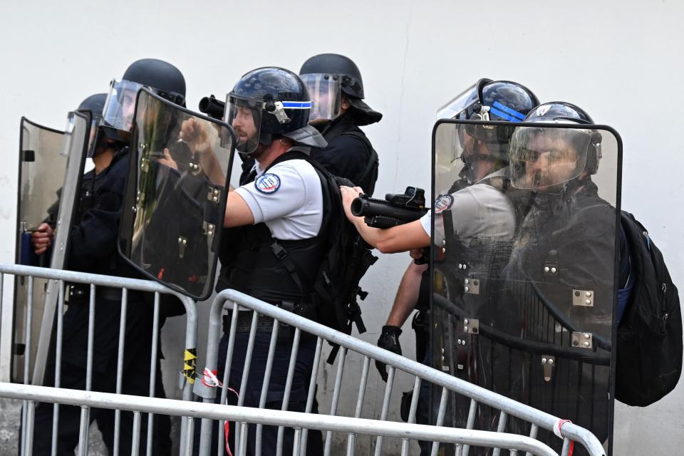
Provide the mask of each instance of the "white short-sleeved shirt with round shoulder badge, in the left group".
{"label": "white short-sleeved shirt with round shoulder badge, in the left group", "polygon": [[257,162],[254,170],[254,182],[235,189],[252,211],[254,224],[264,222],[271,236],[286,241],[316,236],[323,222],[323,189],[314,167],[293,159],[265,173]]}

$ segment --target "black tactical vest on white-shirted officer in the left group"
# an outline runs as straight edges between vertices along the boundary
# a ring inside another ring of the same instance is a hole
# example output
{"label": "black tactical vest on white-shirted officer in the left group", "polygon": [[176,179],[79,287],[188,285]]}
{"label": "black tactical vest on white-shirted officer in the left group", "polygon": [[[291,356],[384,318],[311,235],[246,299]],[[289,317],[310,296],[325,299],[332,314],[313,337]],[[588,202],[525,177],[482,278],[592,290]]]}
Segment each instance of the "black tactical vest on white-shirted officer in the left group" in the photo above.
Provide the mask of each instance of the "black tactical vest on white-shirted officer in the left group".
{"label": "black tactical vest on white-shirted officer in the left group", "polygon": [[[294,159],[309,157],[293,148],[264,172],[276,163]],[[240,184],[253,182],[254,177],[252,172]],[[326,191],[325,186],[321,188]],[[306,301],[327,247],[324,229],[321,225],[316,237],[299,240],[275,239],[264,222],[226,229],[219,254],[222,267],[217,290],[232,288],[274,304]]]}

